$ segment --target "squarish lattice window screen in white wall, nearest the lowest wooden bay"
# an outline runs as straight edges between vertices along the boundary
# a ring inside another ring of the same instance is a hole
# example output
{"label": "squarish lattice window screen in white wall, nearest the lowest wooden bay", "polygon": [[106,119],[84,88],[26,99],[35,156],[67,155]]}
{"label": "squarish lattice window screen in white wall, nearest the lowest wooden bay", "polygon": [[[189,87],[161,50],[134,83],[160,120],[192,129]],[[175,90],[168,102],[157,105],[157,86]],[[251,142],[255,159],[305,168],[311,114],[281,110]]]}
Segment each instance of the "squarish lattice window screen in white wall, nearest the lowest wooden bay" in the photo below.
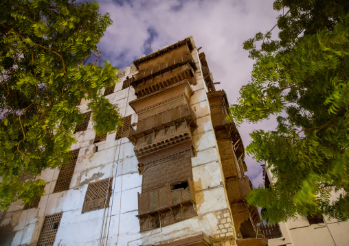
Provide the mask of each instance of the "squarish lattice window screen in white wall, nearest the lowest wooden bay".
{"label": "squarish lattice window screen in white wall, nearest the lowest wooden bay", "polygon": [[82,212],[109,207],[113,177],[90,183],[87,187]]}

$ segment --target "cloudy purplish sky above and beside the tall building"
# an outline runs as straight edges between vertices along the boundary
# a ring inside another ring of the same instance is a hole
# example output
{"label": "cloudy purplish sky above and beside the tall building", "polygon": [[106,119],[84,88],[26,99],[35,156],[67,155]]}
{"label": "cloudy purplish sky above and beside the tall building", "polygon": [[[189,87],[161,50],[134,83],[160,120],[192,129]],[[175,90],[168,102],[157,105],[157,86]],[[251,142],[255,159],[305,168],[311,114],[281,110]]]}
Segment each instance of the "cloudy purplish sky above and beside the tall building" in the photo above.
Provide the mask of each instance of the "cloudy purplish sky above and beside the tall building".
{"label": "cloudy purplish sky above and beside the tall building", "polygon": [[[243,42],[257,32],[267,32],[280,14],[271,0],[104,0],[100,12],[109,12],[108,27],[98,49],[103,60],[124,69],[142,54],[151,53],[192,35],[202,47],[213,74],[216,90],[225,90],[230,104],[236,103],[241,86],[251,78],[254,61]],[[273,130],[275,119],[255,125],[244,123],[238,130],[245,147],[253,130]],[[263,183],[262,168],[245,156],[247,175],[254,187]]]}

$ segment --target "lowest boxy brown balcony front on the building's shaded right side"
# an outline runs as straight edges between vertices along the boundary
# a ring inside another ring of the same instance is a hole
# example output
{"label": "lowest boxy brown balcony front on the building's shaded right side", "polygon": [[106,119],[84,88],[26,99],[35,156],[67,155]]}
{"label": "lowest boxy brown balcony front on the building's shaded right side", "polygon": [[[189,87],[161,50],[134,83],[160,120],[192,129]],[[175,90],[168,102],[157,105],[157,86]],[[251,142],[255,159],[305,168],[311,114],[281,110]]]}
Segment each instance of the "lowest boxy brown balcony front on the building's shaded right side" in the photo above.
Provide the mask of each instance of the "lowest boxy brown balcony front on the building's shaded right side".
{"label": "lowest boxy brown balcony front on the building's shaded right side", "polygon": [[236,201],[239,199],[245,199],[251,186],[249,186],[249,178],[247,176],[241,177],[232,177],[226,180],[227,184],[227,195],[229,202]]}

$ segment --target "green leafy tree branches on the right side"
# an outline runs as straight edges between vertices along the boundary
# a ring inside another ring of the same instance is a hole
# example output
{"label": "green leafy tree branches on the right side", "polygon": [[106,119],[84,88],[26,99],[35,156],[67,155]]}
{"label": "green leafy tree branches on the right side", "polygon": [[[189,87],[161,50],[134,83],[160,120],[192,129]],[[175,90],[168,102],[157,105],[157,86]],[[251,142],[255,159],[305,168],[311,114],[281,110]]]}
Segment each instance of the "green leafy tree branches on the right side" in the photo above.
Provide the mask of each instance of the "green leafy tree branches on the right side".
{"label": "green leafy tree branches on the right side", "polygon": [[349,2],[277,0],[274,9],[288,10],[278,17],[278,39],[269,31],[244,42],[254,69],[230,107],[238,124],[278,115],[278,127],[254,131],[247,147],[258,162],[267,162],[274,184],[252,190],[247,201],[265,208],[269,223],[295,214],[346,221]]}

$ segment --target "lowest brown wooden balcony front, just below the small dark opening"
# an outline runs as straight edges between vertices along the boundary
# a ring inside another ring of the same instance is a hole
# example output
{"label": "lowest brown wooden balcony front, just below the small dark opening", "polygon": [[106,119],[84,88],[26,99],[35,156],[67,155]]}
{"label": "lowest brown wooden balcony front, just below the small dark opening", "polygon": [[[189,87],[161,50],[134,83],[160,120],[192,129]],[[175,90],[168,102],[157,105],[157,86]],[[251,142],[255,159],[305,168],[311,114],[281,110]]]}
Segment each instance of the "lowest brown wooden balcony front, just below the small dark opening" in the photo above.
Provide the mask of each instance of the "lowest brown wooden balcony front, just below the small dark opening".
{"label": "lowest brown wooden balcony front, just below the small dark opening", "polygon": [[194,185],[192,180],[189,179],[186,188],[171,190],[171,185],[167,184],[155,190],[141,194],[138,193],[138,214],[150,214],[152,212],[170,209],[172,206],[194,204],[194,202]]}

